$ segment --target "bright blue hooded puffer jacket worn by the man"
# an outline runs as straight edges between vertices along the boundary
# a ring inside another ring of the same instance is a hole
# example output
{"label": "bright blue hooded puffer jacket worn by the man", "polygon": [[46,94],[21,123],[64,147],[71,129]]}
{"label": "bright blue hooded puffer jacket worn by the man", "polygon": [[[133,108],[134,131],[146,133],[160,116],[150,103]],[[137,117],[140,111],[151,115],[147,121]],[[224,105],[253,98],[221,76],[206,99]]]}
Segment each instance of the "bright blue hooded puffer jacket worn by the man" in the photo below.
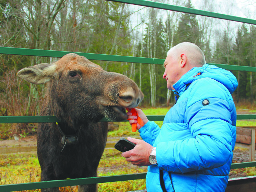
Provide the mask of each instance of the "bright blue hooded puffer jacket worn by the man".
{"label": "bright blue hooded puffer jacket worn by the man", "polygon": [[224,192],[236,140],[231,94],[237,80],[230,71],[205,64],[173,87],[180,98],[161,129],[150,121],[139,129],[142,139],[156,147],[157,165],[148,166],[147,191],[162,191],[160,168],[168,192]]}

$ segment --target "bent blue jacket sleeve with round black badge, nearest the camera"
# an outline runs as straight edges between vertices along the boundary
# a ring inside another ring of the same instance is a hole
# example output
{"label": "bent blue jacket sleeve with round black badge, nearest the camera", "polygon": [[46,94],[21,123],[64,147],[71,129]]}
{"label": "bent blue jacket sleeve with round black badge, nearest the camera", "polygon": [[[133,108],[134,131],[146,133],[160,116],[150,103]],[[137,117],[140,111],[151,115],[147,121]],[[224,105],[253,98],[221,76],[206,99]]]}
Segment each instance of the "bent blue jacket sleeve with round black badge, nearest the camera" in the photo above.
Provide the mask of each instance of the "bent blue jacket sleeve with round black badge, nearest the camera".
{"label": "bent blue jacket sleeve with round black badge, nearest the camera", "polygon": [[[200,84],[194,85],[188,95],[185,123],[192,138],[159,142],[156,146],[158,166],[170,172],[217,168],[232,156],[235,125],[230,112],[233,101],[227,89],[218,83]],[[204,106],[204,99],[210,104]]]}

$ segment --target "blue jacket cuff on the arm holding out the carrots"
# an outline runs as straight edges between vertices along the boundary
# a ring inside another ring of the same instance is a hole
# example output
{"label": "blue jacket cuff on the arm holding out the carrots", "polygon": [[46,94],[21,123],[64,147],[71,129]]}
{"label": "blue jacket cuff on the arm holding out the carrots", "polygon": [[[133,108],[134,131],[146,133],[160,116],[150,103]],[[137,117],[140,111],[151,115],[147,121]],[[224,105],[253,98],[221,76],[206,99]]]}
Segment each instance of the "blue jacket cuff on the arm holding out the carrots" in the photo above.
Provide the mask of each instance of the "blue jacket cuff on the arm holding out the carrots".
{"label": "blue jacket cuff on the arm holding out the carrots", "polygon": [[141,138],[152,146],[159,132],[160,127],[153,121],[148,121],[143,127],[139,129]]}

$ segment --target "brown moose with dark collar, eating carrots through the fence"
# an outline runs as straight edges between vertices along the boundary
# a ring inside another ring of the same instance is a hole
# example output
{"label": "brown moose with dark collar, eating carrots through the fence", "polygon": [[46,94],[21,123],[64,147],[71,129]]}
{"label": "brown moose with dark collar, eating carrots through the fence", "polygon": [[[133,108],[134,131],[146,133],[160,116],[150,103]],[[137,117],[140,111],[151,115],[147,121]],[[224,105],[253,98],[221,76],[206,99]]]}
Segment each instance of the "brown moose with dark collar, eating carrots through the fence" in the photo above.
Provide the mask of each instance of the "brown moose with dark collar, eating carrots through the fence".
{"label": "brown moose with dark collar, eating carrots through the fence", "polygon": [[[60,120],[38,123],[41,181],[96,177],[108,131],[108,123],[100,120],[125,120],[125,108],[138,106],[144,98],[133,80],[74,53],[52,64],[25,67],[17,75],[30,83],[47,83],[40,115]],[[81,185],[78,191],[95,192],[97,185]]]}

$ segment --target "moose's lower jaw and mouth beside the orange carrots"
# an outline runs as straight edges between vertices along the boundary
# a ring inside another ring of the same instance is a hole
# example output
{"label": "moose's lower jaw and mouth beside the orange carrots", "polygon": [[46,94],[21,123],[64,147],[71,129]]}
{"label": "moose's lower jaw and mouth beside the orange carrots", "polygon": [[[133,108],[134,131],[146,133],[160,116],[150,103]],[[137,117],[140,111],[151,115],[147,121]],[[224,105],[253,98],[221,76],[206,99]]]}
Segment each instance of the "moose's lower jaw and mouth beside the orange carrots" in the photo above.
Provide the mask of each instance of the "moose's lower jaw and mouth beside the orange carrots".
{"label": "moose's lower jaw and mouth beside the orange carrots", "polygon": [[122,121],[128,118],[125,108],[121,106],[105,107],[104,113],[110,121]]}

